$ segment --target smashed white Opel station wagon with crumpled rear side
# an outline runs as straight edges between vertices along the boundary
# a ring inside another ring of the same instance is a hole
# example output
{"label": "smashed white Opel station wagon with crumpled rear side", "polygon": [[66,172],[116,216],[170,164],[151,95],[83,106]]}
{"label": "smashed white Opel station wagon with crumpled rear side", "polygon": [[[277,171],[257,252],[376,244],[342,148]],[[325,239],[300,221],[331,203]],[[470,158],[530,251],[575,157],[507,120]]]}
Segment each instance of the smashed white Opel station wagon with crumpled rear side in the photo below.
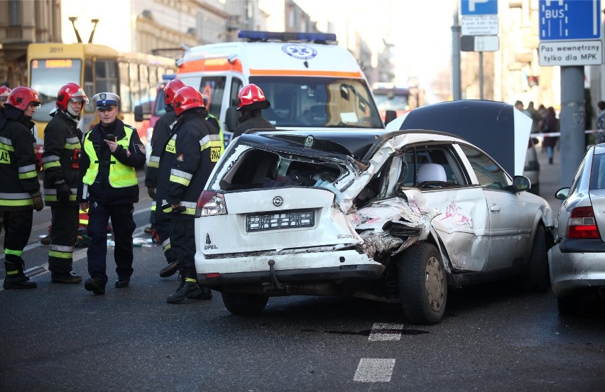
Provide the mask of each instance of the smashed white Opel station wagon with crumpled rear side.
{"label": "smashed white Opel station wagon with crumpled rear side", "polygon": [[[524,115],[497,104],[494,121],[523,139]],[[549,287],[552,212],[529,187],[441,131],[249,131],[197,203],[197,281],[234,314],[278,295],[352,295],[434,324],[452,288],[511,277]]]}

